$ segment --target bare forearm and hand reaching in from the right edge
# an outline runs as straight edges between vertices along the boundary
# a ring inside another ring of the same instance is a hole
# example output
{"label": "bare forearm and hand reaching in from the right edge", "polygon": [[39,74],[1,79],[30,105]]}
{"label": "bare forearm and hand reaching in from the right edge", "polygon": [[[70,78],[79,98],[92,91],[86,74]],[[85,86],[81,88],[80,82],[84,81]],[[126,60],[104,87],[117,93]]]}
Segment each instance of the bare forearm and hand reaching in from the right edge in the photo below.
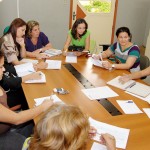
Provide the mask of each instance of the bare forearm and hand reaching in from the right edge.
{"label": "bare forearm and hand reaching in from the right edge", "polygon": [[142,77],[149,76],[149,75],[150,75],[150,67],[148,67],[144,70],[138,71],[138,72],[133,72],[131,74],[125,74],[119,78],[119,81],[121,83],[125,83],[129,80],[140,79]]}

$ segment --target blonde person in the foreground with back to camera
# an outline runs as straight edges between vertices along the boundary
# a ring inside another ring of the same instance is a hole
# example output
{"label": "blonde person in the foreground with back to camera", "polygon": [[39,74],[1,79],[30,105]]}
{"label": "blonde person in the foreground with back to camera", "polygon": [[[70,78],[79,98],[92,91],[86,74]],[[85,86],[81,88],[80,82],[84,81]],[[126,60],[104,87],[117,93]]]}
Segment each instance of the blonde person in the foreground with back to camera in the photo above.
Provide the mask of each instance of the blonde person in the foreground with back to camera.
{"label": "blonde person in the foreground with back to camera", "polygon": [[[88,137],[95,134],[78,107],[55,103],[42,115],[23,150],[85,150]],[[115,150],[113,136],[102,134],[100,140],[108,150]]]}

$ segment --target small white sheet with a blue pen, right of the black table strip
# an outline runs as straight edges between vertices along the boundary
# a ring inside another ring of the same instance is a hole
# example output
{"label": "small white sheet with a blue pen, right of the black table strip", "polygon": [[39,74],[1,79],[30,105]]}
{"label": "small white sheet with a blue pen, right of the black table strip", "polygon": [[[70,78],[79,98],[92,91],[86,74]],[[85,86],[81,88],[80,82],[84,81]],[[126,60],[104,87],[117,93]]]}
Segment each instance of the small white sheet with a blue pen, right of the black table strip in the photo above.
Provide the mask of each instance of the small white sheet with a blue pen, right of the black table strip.
{"label": "small white sheet with a blue pen, right of the black table strip", "polygon": [[125,114],[143,113],[132,100],[117,100],[117,103]]}

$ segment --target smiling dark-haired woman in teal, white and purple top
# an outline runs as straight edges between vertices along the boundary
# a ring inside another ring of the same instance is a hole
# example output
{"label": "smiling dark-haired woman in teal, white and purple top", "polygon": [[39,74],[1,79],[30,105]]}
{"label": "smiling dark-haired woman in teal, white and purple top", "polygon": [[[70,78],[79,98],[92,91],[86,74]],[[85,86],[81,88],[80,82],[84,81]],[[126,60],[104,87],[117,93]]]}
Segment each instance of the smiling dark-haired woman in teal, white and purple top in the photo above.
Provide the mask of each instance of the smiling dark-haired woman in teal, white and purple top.
{"label": "smiling dark-haired woman in teal, white and purple top", "polygon": [[106,69],[128,69],[130,72],[136,72],[140,70],[140,50],[137,45],[131,41],[131,33],[127,27],[121,27],[117,29],[116,36],[118,41],[111,45],[106,51],[98,55],[93,55],[95,59],[108,58],[111,55],[115,55],[115,64],[109,61],[102,63]]}

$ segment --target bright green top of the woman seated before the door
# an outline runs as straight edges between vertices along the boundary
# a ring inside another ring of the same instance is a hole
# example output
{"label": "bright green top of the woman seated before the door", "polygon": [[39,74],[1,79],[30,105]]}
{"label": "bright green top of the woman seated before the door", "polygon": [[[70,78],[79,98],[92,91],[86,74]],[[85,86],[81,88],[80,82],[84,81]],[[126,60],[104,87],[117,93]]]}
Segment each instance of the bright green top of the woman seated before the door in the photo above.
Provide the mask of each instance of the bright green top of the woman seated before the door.
{"label": "bright green top of the woman seated before the door", "polygon": [[70,35],[71,37],[71,45],[75,45],[75,46],[85,46],[85,41],[86,41],[86,38],[90,35],[90,31],[87,30],[86,34],[83,35],[81,37],[81,39],[74,39],[72,34],[71,34],[71,30],[69,30],[68,34]]}

